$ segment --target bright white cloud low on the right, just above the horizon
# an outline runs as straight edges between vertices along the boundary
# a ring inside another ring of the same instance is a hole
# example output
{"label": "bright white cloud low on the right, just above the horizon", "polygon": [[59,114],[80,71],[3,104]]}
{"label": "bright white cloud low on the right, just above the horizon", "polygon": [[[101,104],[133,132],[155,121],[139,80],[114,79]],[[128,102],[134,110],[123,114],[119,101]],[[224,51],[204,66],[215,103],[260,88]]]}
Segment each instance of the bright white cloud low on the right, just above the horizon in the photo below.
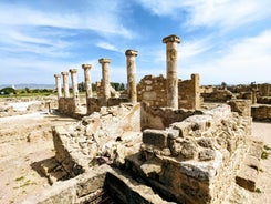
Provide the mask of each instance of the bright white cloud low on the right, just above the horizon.
{"label": "bright white cloud low on the right, just above the horizon", "polygon": [[[223,54],[197,64],[180,63],[180,74],[200,73],[202,83],[271,82],[271,30],[240,42],[229,42]],[[183,69],[181,69],[183,68]],[[183,76],[181,76],[183,78]]]}

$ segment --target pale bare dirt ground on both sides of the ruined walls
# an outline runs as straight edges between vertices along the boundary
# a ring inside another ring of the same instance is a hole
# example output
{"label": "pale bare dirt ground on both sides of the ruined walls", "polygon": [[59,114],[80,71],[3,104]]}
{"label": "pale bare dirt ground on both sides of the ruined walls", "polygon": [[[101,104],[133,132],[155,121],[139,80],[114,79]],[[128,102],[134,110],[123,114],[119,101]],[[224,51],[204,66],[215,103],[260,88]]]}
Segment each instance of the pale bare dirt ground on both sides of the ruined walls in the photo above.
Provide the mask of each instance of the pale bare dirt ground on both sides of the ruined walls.
{"label": "pale bare dirt ground on both sides of the ruined walls", "polygon": [[[74,119],[49,114],[46,110],[0,118],[0,203],[20,203],[49,187],[37,164],[54,156],[51,126],[76,122]],[[271,147],[271,123],[253,123],[253,136]],[[271,152],[269,151],[269,154]],[[271,155],[262,160],[259,193],[238,188],[234,203],[271,203]]]}

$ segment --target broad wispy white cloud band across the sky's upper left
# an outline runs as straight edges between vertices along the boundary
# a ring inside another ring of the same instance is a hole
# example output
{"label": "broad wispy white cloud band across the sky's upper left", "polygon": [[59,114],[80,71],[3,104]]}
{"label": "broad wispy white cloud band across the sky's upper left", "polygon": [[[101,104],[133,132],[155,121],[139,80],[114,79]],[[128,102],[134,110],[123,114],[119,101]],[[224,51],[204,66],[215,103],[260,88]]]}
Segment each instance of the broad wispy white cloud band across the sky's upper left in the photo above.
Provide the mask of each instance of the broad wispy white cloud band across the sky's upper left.
{"label": "broad wispy white cloud band across the sky's upper left", "polygon": [[[80,11],[43,11],[34,10],[21,4],[0,3],[0,24],[12,26],[48,26],[69,29],[86,29],[100,34],[116,34],[132,38],[133,32],[124,28],[119,17],[117,1],[90,2],[90,6]],[[105,4],[106,3],[106,4]],[[14,14],[15,13],[15,14]]]}

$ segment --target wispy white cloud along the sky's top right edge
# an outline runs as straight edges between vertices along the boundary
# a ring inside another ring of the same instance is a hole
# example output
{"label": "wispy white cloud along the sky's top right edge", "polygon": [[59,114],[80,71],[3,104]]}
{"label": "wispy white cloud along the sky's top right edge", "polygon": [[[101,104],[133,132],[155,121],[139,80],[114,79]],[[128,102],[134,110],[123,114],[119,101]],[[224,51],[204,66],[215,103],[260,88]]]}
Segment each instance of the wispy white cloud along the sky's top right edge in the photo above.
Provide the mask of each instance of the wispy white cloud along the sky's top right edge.
{"label": "wispy white cloud along the sky's top right edge", "polygon": [[[230,30],[271,17],[270,0],[139,0],[157,16],[170,16],[189,27],[219,27]],[[184,18],[184,13],[187,14]]]}

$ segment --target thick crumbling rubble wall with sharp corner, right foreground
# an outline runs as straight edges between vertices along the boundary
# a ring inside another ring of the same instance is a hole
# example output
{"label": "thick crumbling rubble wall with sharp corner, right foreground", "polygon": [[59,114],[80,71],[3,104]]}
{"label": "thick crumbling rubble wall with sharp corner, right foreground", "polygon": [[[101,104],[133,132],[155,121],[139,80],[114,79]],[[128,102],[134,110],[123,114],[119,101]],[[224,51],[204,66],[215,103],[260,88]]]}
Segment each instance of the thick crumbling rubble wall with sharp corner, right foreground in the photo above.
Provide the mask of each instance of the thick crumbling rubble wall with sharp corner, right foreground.
{"label": "thick crumbling rubble wall with sharp corner, right foreground", "polygon": [[145,130],[140,154],[127,169],[178,203],[222,203],[246,153],[251,118],[221,105],[202,115]]}

